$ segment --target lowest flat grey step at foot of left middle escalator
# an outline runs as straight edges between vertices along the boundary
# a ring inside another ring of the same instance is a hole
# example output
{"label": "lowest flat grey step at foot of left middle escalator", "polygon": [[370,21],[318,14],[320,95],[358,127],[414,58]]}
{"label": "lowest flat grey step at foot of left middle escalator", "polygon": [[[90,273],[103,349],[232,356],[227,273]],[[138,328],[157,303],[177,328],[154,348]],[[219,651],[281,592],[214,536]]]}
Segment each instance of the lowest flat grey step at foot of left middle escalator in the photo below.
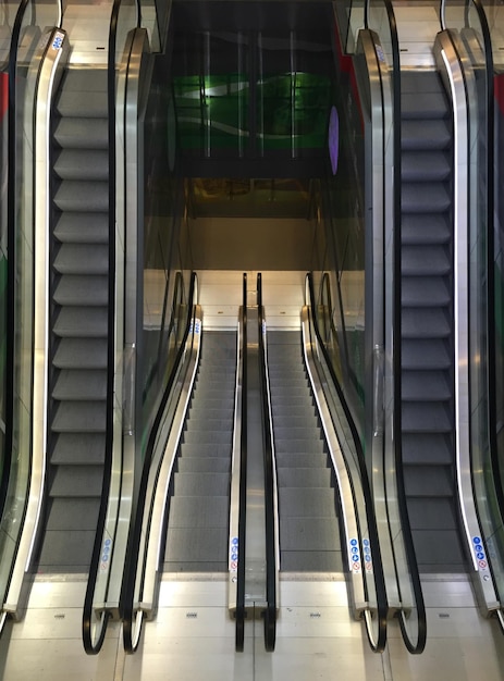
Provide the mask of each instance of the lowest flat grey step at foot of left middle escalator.
{"label": "lowest flat grey step at foot of left middle escalator", "polygon": [[[228,528],[168,528],[165,569],[200,571],[206,564],[228,567]],[[170,561],[173,566],[170,568]],[[200,565],[202,564],[202,566]],[[179,568],[176,566],[180,566]]]}

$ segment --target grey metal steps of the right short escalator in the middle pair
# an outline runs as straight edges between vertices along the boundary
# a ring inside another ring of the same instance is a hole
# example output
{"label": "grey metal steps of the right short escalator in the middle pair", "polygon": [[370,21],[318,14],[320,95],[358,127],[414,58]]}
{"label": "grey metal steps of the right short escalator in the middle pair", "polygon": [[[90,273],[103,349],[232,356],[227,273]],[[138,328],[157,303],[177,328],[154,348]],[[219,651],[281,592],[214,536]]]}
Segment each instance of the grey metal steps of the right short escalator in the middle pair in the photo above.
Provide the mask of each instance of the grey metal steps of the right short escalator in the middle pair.
{"label": "grey metal steps of the right short escalator in the middle pair", "polygon": [[334,471],[304,367],[298,331],[268,332],[268,373],[285,572],[342,572]]}

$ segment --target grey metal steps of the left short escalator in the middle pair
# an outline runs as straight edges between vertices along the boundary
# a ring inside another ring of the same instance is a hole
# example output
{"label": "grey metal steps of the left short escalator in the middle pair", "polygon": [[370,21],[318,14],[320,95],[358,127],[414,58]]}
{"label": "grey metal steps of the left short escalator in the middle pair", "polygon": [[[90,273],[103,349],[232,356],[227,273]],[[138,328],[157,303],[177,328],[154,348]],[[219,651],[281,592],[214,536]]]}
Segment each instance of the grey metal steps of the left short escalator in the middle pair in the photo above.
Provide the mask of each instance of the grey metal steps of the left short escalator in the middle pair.
{"label": "grey metal steps of the left short escalator in the middle pair", "polygon": [[206,331],[177,447],[164,572],[228,570],[235,372],[236,334]]}

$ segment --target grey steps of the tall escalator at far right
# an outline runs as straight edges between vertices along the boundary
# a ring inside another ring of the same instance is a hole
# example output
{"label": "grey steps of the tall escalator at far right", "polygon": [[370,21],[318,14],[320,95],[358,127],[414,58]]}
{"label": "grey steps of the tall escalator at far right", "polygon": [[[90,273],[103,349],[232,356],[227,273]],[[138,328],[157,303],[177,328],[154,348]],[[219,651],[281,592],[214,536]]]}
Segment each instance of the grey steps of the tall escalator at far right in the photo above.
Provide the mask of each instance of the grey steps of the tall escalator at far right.
{"label": "grey steps of the tall escalator at far right", "polygon": [[464,572],[454,469],[452,114],[438,72],[403,71],[401,92],[405,492],[420,572]]}

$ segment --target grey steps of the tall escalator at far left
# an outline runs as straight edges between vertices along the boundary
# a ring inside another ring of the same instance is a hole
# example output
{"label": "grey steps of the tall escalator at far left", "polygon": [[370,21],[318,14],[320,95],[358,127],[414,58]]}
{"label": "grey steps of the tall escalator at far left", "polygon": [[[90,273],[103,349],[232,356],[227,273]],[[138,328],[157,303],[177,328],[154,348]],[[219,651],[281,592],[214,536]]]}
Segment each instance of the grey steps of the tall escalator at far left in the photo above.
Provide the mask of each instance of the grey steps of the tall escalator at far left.
{"label": "grey steps of the tall escalator at far left", "polygon": [[106,450],[107,70],[67,69],[53,117],[50,471],[38,570],[87,572]]}

